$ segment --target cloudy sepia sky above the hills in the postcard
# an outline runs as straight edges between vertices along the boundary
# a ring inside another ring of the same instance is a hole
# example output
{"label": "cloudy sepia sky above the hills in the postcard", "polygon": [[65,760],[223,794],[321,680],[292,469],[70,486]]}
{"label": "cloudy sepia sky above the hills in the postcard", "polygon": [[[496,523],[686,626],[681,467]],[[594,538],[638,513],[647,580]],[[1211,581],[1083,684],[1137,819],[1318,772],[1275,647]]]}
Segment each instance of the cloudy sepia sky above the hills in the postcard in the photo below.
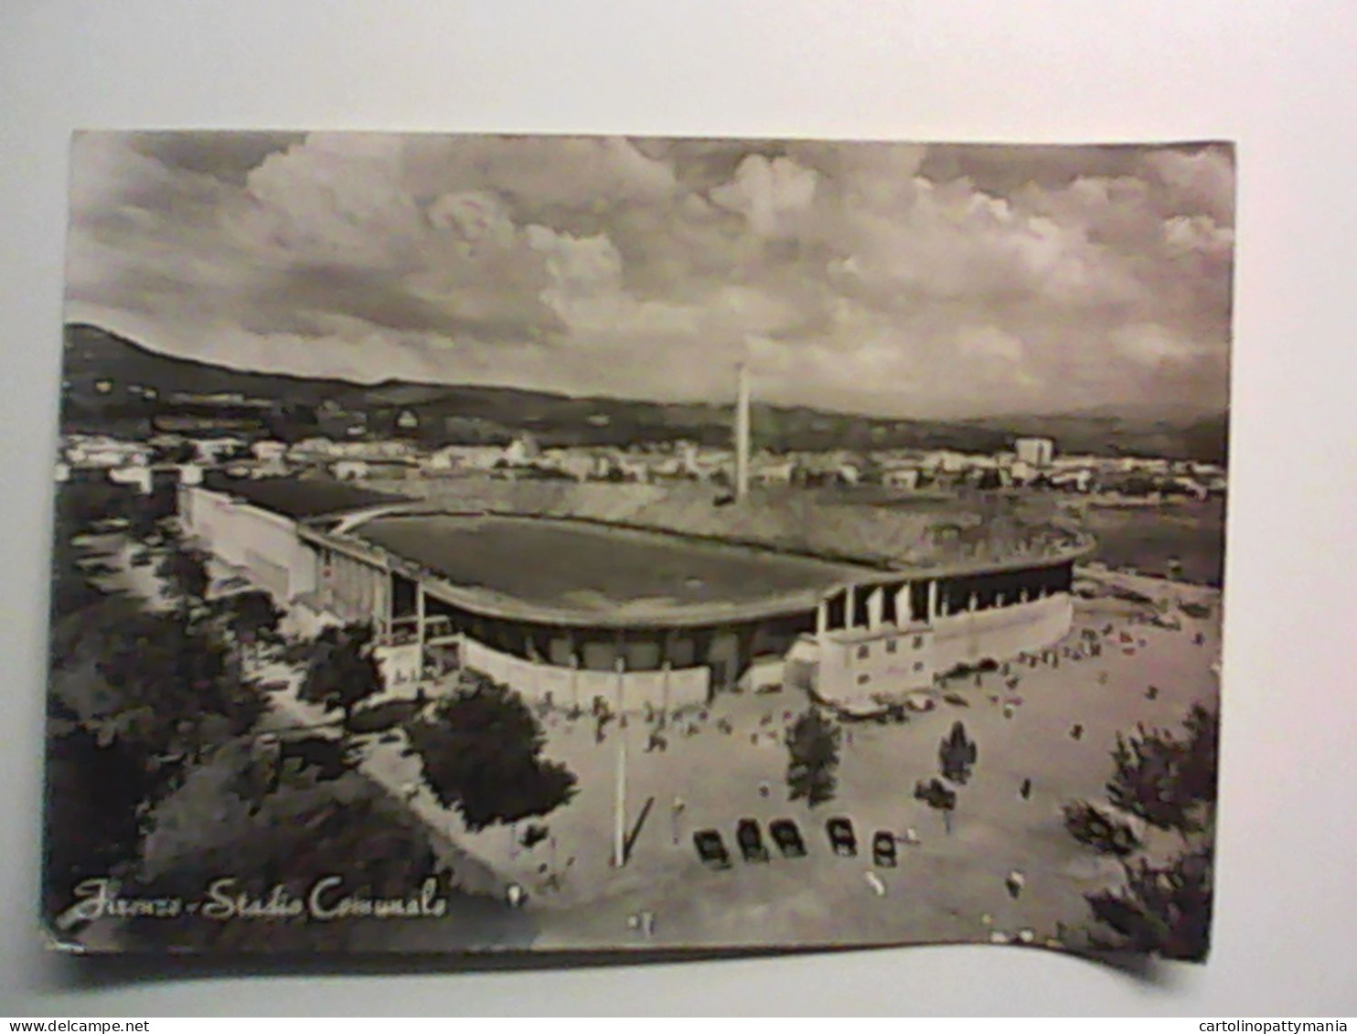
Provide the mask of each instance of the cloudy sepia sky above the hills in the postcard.
{"label": "cloudy sepia sky above the hills in the postcard", "polygon": [[247,369],[959,417],[1225,403],[1234,156],[85,133],[68,312]]}

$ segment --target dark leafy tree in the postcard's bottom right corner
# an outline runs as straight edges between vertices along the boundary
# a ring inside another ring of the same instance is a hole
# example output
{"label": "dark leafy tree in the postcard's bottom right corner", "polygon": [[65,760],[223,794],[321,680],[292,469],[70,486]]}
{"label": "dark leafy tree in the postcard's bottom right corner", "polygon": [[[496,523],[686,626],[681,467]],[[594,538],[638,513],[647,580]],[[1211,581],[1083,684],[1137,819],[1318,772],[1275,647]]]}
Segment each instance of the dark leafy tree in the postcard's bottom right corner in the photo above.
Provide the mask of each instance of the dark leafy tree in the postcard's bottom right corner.
{"label": "dark leafy tree in the postcard's bottom right corner", "polygon": [[1126,886],[1087,894],[1094,917],[1114,936],[1095,947],[1200,961],[1210,946],[1212,856],[1191,851],[1164,866],[1124,863]]}

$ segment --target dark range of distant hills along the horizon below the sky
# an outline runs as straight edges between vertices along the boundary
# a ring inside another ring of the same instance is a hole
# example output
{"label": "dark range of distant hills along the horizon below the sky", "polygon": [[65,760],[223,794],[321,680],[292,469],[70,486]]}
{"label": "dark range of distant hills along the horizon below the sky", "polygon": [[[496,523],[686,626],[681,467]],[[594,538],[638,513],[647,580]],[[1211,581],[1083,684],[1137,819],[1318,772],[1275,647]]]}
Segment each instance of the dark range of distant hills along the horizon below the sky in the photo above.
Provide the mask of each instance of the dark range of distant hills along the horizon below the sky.
{"label": "dark range of distant hills along the horizon below the sky", "polygon": [[[217,426],[284,438],[365,429],[430,442],[508,441],[532,432],[546,445],[627,445],[687,438],[730,441],[731,407],[571,398],[509,387],[415,384],[251,373],[152,351],[100,327],[65,332],[62,427],[147,433]],[[178,422],[178,423],[176,423]],[[1158,417],[1101,411],[969,421],[911,421],[754,403],[753,434],[771,449],[947,448],[993,452],[1022,434],[1060,452],[1221,461],[1225,414]]]}

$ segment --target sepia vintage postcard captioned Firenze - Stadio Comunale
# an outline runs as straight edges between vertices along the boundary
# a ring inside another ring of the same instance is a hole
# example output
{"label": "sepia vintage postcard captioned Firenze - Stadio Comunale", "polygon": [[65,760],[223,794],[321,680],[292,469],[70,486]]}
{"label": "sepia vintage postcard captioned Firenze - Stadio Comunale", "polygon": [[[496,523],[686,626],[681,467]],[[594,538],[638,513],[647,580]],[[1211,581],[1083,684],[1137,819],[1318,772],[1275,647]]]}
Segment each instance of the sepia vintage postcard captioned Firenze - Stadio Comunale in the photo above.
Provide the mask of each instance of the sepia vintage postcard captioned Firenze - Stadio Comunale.
{"label": "sepia vintage postcard captioned Firenze - Stadio Comunale", "polygon": [[1204,959],[1234,182],[77,134],[49,942]]}

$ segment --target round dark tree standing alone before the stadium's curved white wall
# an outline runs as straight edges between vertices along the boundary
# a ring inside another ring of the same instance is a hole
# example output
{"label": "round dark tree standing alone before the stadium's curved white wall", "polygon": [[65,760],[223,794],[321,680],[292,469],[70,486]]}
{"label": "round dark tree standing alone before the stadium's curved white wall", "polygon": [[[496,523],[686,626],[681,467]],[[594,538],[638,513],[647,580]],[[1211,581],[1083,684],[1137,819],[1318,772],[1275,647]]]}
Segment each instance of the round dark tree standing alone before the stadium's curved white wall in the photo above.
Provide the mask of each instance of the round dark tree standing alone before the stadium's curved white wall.
{"label": "round dark tree standing alone before the stadium's curved white wall", "polygon": [[541,759],[546,735],[522,697],[482,674],[463,672],[407,731],[430,791],[467,829],[546,816],[575,794],[574,773]]}

